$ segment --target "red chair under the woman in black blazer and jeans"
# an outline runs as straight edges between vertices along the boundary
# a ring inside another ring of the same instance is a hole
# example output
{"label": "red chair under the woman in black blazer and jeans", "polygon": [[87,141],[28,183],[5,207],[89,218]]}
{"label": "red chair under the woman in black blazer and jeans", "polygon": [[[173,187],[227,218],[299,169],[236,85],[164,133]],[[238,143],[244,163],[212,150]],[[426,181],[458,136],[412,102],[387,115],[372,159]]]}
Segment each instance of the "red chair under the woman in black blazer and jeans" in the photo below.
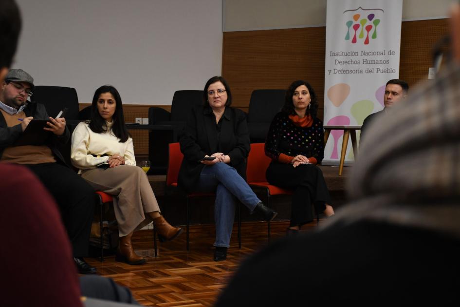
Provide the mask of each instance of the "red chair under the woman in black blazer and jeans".
{"label": "red chair under the woman in black blazer and jeans", "polygon": [[[169,156],[168,156],[168,168],[166,173],[166,186],[177,188],[177,179],[179,177],[179,170],[181,169],[182,160],[184,154],[181,152],[181,146],[179,143],[169,143]],[[202,197],[202,196],[213,196],[214,193],[187,193],[187,251],[190,251],[190,198]],[[241,249],[241,214],[238,205],[238,246]]]}

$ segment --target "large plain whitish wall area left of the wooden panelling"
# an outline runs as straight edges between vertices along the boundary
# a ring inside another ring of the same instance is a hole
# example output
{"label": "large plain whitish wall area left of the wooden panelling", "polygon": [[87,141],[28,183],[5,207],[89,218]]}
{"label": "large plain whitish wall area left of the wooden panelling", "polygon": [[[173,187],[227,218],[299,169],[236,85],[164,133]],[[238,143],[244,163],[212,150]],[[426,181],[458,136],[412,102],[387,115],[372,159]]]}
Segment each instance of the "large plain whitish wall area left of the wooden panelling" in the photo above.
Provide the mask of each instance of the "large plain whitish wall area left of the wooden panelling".
{"label": "large plain whitish wall area left of the wooden panelling", "polygon": [[124,104],[171,104],[221,74],[220,0],[17,0],[16,63],[37,85],[74,87],[91,102],[103,84]]}

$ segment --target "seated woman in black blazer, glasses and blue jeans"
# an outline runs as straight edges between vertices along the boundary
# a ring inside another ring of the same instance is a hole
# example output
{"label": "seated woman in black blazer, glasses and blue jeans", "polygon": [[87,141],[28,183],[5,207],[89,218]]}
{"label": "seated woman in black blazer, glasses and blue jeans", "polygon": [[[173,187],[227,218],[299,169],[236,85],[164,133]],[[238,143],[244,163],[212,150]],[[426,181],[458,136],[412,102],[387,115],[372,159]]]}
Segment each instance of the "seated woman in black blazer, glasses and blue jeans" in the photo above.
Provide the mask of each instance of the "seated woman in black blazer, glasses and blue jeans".
{"label": "seated woman in black blazer, glasses and blue jeans", "polygon": [[230,108],[232,94],[222,77],[204,86],[204,105],[194,107],[181,137],[184,153],[179,186],[187,192],[215,192],[216,247],[214,260],[225,260],[237,199],[271,221],[276,212],[262,204],[245,181],[250,150],[246,115]]}

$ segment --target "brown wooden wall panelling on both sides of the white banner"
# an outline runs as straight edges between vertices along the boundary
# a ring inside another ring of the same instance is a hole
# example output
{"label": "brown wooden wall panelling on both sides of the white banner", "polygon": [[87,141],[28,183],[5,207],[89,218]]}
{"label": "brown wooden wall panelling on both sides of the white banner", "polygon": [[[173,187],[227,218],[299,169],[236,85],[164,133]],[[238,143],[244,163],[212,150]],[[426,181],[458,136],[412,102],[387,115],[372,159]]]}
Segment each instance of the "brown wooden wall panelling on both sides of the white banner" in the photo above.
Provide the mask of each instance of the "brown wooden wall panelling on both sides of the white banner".
{"label": "brown wooden wall panelling on both sides of the white banner", "polygon": [[[405,21],[401,32],[400,77],[410,86],[426,79],[431,48],[447,34],[447,19]],[[287,88],[308,80],[324,112],[326,27],[225,32],[222,76],[230,84],[234,105],[248,107],[255,89]]]}

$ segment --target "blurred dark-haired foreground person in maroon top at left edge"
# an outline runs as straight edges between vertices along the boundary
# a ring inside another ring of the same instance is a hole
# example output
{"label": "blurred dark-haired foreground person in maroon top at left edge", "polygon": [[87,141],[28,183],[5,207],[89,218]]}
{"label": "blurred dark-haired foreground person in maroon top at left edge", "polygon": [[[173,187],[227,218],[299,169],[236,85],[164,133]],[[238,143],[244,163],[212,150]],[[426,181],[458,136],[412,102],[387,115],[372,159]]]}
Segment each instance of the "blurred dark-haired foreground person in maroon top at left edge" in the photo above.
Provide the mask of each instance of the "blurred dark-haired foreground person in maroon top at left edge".
{"label": "blurred dark-haired foreground person in maroon top at left edge", "polygon": [[[0,1],[0,83],[16,52],[21,18],[14,0]],[[80,276],[57,205],[26,167],[0,164],[0,231],[5,248],[2,306],[80,307],[80,295],[136,304],[128,288],[98,275]],[[25,185],[25,183],[27,183]],[[18,192],[18,189],[23,188]],[[25,294],[25,295],[24,295]],[[97,302],[96,302],[97,303]],[[102,302],[109,306],[109,302]]]}

